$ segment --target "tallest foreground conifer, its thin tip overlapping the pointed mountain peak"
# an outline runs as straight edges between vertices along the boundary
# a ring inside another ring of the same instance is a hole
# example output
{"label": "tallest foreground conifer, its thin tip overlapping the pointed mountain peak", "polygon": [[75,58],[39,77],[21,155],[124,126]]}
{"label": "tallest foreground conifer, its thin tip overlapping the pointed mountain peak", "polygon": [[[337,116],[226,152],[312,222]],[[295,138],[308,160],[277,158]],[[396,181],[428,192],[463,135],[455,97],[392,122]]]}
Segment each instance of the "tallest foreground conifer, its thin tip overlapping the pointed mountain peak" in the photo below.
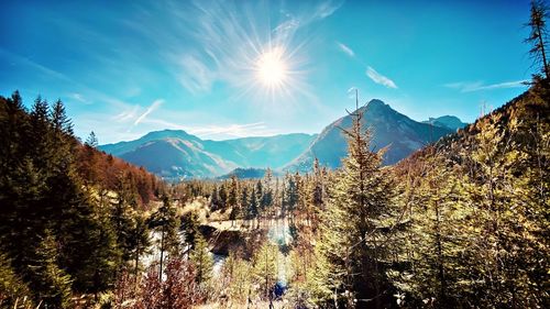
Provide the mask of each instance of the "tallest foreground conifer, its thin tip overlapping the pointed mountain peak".
{"label": "tallest foreground conifer, its thin tip overlapping the pointed mountain peak", "polygon": [[366,306],[374,299],[381,308],[387,285],[385,261],[388,256],[392,184],[381,169],[382,154],[369,150],[370,135],[361,128],[358,109],[353,125],[343,130],[349,155],[342,161],[332,196],[322,216],[320,250],[330,265],[324,284],[340,295],[348,307]]}

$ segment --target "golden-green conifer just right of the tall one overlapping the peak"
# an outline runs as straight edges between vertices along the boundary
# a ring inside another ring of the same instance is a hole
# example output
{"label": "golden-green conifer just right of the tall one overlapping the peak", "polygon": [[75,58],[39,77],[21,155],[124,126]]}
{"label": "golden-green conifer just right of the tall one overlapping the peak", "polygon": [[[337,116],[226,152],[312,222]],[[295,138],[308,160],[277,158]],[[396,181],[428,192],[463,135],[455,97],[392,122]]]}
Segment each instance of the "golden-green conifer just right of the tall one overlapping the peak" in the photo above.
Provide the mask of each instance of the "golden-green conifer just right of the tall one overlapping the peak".
{"label": "golden-green conifer just right of the tall one overlapping the peak", "polygon": [[474,212],[465,202],[464,179],[459,170],[449,168],[452,165],[436,151],[431,155],[418,179],[420,184],[407,192],[405,209],[410,229],[406,243],[398,244],[406,247],[407,263],[402,264],[403,274],[393,279],[404,293],[400,305],[462,307],[466,306],[461,304],[462,293],[472,282],[460,260],[472,236],[472,231],[465,228],[466,218]]}

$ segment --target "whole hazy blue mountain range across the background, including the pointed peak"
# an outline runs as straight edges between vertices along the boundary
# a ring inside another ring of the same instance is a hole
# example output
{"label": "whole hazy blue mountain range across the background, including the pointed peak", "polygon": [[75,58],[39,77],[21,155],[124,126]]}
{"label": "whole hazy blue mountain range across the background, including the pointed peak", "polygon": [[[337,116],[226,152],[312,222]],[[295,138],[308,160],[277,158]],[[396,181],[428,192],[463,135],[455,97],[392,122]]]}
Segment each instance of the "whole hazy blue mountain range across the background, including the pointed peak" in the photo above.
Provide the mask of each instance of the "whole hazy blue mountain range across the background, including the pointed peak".
{"label": "whole hazy blue mountain range across the background, including the pointed peak", "polygon": [[[386,165],[395,164],[465,125],[451,115],[418,122],[376,99],[359,111],[364,113],[364,128],[372,133],[372,148],[376,151],[388,146],[384,157]],[[164,130],[99,148],[174,180],[213,178],[243,168],[307,172],[316,157],[323,166],[340,166],[341,158],[346,154],[341,129],[349,128],[351,123],[352,117],[348,114],[327,125],[320,134],[293,133],[226,141],[201,140],[182,130]]]}

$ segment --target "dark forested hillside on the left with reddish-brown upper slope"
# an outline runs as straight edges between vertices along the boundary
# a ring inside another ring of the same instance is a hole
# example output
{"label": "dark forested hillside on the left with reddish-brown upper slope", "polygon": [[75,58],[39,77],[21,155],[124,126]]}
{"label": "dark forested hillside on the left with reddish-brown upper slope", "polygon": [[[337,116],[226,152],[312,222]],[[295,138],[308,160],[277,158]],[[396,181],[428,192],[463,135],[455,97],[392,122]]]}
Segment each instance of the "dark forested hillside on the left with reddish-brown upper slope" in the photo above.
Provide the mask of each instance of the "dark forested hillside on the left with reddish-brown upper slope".
{"label": "dark forested hillside on the left with reddish-brown upper slope", "polygon": [[0,306],[70,308],[112,288],[164,184],[95,150],[94,134],[82,145],[61,101],[26,111],[18,92],[0,97]]}

